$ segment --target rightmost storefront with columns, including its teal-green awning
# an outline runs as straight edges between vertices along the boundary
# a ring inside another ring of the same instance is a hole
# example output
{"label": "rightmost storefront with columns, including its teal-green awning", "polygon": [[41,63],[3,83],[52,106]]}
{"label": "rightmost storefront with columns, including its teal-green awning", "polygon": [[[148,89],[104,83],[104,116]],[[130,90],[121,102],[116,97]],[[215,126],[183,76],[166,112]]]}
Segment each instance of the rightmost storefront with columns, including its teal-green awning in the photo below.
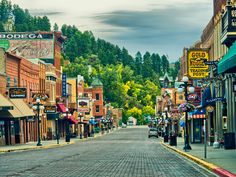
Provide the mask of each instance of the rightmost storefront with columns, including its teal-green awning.
{"label": "rightmost storefront with columns, including its teal-green awning", "polygon": [[[232,44],[228,52],[218,63],[218,74],[223,78],[217,83],[219,91],[217,97],[222,101],[216,103],[216,117],[219,131],[219,138],[223,138],[224,133],[236,134],[236,42]],[[236,136],[234,138],[234,141]],[[233,140],[232,140],[233,141]]]}

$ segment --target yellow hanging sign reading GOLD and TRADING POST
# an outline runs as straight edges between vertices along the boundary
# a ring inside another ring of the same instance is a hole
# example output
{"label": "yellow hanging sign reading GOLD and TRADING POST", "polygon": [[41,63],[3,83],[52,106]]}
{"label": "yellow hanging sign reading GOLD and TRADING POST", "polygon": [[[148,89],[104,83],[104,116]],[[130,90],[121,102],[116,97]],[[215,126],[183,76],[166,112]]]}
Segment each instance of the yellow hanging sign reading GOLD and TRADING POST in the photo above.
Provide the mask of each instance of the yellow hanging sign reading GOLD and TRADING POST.
{"label": "yellow hanging sign reading GOLD and TRADING POST", "polygon": [[209,60],[209,54],[206,50],[191,49],[188,50],[188,76],[192,79],[201,79],[208,76],[208,65],[205,61]]}

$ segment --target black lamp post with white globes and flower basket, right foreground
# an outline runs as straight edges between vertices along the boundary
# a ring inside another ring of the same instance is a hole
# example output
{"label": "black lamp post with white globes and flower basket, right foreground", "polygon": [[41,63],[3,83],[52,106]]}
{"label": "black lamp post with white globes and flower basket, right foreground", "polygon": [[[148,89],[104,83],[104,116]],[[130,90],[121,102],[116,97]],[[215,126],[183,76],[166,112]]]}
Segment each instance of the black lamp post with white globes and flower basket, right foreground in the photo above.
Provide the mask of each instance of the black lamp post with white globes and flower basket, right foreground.
{"label": "black lamp post with white globes and flower basket, right foreground", "polygon": [[[184,97],[186,104],[188,102],[188,91],[189,93],[194,93],[194,87],[188,83],[189,79],[187,76],[184,76],[182,81],[184,84],[181,84],[180,87],[178,88],[178,92],[182,93],[184,91]],[[189,86],[189,90],[188,90]],[[189,134],[188,134],[188,109],[185,110],[185,131],[184,131],[184,150],[191,150],[191,146],[189,144]]]}

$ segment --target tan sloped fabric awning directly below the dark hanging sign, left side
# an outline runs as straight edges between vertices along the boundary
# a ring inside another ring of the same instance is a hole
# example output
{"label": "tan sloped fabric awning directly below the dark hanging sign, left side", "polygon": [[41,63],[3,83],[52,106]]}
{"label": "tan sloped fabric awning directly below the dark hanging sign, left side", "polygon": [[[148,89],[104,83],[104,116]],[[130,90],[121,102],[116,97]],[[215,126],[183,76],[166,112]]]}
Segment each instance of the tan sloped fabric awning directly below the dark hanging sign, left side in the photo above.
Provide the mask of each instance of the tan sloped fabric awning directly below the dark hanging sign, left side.
{"label": "tan sloped fabric awning directly below the dark hanging sign, left side", "polygon": [[[23,115],[22,117],[35,116],[34,111],[30,109],[22,99],[10,99],[10,101],[13,103],[14,109],[17,108],[21,112],[21,114]],[[10,110],[9,112],[12,111],[14,110]]]}

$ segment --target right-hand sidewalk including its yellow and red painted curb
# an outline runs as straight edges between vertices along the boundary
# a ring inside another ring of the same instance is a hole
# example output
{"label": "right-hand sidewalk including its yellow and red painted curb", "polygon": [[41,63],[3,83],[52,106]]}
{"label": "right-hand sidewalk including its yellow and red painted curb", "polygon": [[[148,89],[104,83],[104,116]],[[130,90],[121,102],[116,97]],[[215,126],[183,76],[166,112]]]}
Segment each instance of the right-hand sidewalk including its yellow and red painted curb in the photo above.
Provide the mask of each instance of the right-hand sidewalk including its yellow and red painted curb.
{"label": "right-hand sidewalk including its yellow and red painted curb", "polygon": [[169,149],[189,158],[192,161],[208,168],[219,176],[236,177],[236,149],[225,150],[224,148],[214,149],[207,145],[207,158],[204,158],[204,144],[190,144],[192,150],[185,152],[184,139],[177,138],[177,146],[170,146],[162,143]]}

